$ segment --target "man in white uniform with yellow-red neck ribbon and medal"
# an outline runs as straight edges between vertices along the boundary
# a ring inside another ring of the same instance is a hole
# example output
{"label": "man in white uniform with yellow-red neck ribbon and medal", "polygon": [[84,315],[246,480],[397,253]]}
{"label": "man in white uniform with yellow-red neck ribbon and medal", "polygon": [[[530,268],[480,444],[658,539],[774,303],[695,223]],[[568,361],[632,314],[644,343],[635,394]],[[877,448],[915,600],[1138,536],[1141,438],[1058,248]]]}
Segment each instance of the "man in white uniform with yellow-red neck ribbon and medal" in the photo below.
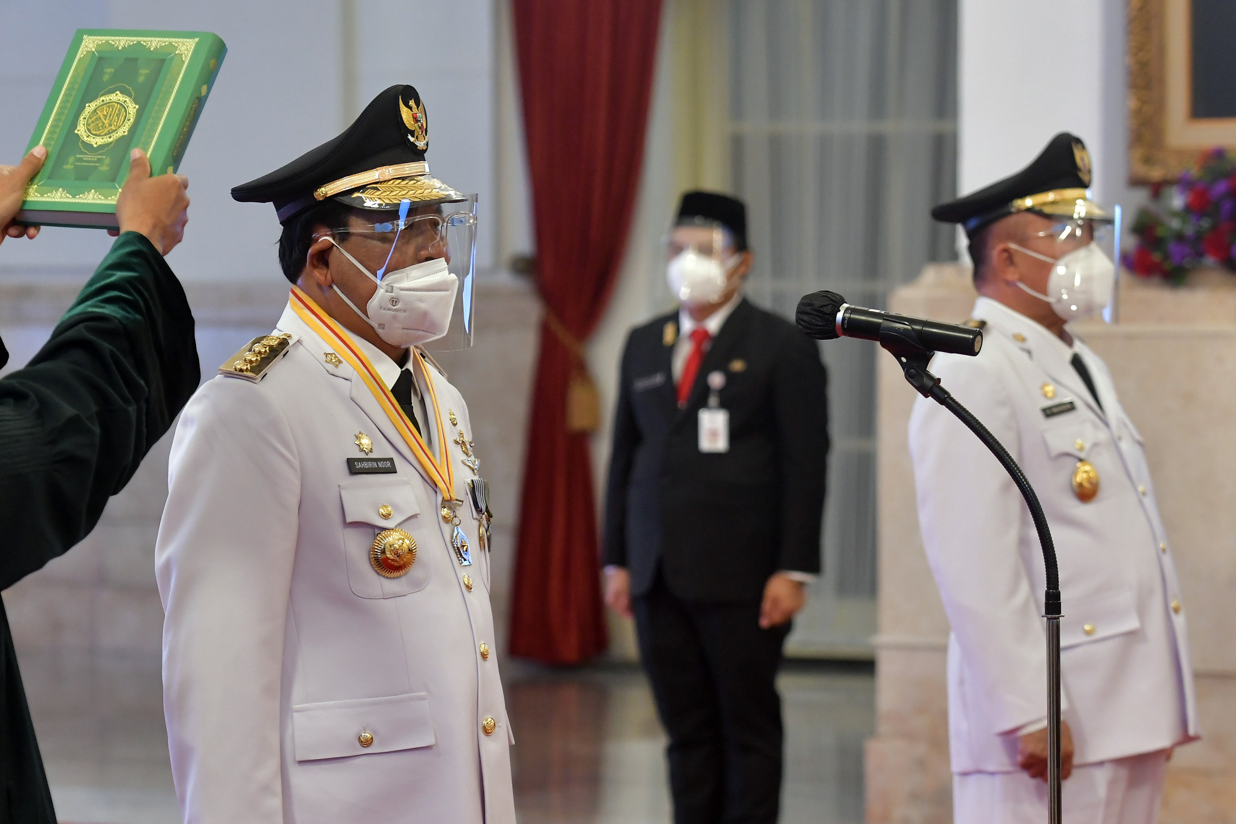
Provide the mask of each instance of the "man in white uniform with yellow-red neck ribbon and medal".
{"label": "man in white uniform with yellow-red neck ribbon and medal", "polygon": [[294,287],[172,448],[157,577],[187,822],[514,822],[486,487],[420,347],[464,314],[475,199],[430,177],[428,142],[396,85],[232,190],[274,204]]}

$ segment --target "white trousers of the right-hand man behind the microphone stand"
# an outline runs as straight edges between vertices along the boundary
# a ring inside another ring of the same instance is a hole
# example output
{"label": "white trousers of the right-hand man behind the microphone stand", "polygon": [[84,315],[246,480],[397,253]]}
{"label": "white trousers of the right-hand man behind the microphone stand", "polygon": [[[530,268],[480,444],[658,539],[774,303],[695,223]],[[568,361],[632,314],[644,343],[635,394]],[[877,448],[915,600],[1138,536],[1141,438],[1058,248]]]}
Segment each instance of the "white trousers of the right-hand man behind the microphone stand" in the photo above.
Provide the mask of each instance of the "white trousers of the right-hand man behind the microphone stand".
{"label": "white trousers of the right-hand man behind the microphone stand", "polygon": [[[1167,750],[1073,767],[1060,784],[1064,824],[1156,824]],[[1025,772],[953,776],[954,824],[1044,824],[1047,782]]]}

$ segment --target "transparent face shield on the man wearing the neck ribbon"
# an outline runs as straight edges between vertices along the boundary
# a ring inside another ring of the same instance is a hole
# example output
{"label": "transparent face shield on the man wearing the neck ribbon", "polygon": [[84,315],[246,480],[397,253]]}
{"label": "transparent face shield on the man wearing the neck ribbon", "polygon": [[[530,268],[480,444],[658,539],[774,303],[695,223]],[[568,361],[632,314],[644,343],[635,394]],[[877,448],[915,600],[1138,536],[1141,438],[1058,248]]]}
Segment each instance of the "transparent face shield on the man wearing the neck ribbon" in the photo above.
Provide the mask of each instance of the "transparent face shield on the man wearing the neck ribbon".
{"label": "transparent face shield on the man wearing the neck ribbon", "polygon": [[352,222],[330,233],[349,238],[352,248],[371,247],[370,259],[384,261],[373,274],[378,282],[393,273],[426,261],[445,259],[459,280],[450,326],[441,337],[421,346],[431,352],[450,352],[472,346],[476,289],[476,204],[477,196],[431,206],[413,206],[404,200],[398,217],[375,224]]}

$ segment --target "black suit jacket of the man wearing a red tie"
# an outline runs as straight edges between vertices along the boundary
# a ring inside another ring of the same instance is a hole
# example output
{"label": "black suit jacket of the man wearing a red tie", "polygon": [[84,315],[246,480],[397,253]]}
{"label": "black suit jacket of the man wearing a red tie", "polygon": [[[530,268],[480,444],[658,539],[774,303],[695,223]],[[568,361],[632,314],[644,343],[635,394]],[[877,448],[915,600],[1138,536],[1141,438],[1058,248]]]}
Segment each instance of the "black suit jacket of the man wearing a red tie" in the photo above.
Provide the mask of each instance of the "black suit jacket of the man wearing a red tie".
{"label": "black suit jacket of the man wearing a red tie", "polygon": [[[674,594],[717,602],[759,599],[777,570],[819,572],[828,411],[816,342],[744,299],[679,409],[669,324],[677,329],[677,313],[633,330],[623,352],[606,565],[629,570],[633,595],[660,566]],[[726,453],[698,448],[713,371],[726,374]]]}

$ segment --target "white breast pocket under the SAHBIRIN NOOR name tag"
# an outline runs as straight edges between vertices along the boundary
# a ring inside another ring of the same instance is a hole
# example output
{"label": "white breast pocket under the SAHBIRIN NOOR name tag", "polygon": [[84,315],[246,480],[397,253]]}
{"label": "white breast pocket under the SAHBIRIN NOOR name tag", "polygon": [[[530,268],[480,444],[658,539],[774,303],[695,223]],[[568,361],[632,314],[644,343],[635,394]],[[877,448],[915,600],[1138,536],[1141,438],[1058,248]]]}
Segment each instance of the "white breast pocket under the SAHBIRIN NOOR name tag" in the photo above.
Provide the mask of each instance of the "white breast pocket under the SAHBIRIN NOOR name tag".
{"label": "white breast pocket under the SAHBIRIN NOOR name tag", "polygon": [[[420,546],[420,507],[408,479],[356,478],[339,484],[344,505],[344,555],[347,558],[347,583],[361,598],[398,598],[429,586],[429,553]],[[415,556],[407,572],[388,577],[375,568],[375,540],[387,530],[403,530],[412,536]]]}

